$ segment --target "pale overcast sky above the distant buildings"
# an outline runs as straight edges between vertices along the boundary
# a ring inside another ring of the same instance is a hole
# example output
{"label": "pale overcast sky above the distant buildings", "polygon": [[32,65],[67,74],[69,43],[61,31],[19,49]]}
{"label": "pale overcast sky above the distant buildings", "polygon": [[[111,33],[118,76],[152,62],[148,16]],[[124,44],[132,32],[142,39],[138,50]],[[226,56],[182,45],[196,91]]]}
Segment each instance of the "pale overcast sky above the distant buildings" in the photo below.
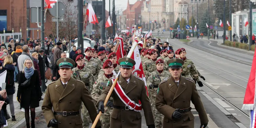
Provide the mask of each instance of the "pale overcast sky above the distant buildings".
{"label": "pale overcast sky above the distant buildings", "polygon": [[[110,10],[112,11],[112,1],[113,0],[110,0]],[[119,10],[122,10],[124,11],[127,7],[127,1],[128,0],[115,0],[115,5],[116,5],[116,11],[119,9]],[[134,4],[137,0],[129,0],[129,3],[130,4]],[[106,10],[109,11],[109,0],[106,0],[106,6],[105,6]],[[112,13],[112,12],[111,12]]]}

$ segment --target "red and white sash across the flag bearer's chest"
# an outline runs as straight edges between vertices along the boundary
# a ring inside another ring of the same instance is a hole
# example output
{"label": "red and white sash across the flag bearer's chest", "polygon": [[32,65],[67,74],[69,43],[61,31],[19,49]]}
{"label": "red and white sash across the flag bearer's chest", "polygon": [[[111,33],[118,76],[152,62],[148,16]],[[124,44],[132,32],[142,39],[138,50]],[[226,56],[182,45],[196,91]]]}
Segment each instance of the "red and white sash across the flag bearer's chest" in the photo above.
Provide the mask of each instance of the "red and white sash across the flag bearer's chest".
{"label": "red and white sash across the flag bearer's chest", "polygon": [[[112,79],[112,83],[114,83],[115,79]],[[115,92],[117,93],[117,96],[123,101],[123,103],[129,107],[129,109],[133,109],[136,112],[140,112],[142,110],[141,103],[137,104],[134,101],[132,101],[123,91],[121,85],[117,81],[117,84],[114,88]],[[128,104],[129,103],[129,104]]]}

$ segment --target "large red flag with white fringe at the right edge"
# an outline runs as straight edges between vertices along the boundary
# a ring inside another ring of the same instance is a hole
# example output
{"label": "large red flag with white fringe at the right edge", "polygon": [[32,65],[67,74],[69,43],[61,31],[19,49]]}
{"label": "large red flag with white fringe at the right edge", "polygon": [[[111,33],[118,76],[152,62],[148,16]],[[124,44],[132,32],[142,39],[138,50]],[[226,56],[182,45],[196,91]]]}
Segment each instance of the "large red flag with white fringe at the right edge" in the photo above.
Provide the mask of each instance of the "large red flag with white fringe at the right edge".
{"label": "large red flag with white fringe at the right edge", "polygon": [[256,73],[256,52],[254,53],[253,60],[252,60],[252,66],[251,66],[251,72],[249,75],[247,87],[245,90],[245,97],[244,97],[244,103],[242,110],[249,110],[250,111],[250,128],[256,128],[256,104],[255,104],[255,73]]}

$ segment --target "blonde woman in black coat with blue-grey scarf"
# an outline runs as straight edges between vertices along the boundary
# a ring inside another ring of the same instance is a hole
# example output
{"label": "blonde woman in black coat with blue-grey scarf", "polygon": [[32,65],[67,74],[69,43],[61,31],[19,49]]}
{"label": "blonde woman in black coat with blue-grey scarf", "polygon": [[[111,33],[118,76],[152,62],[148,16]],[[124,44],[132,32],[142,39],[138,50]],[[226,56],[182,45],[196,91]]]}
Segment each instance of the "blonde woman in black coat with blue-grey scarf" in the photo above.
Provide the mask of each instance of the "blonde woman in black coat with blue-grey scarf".
{"label": "blonde woman in black coat with blue-grey scarf", "polygon": [[[27,79],[30,79],[30,84],[27,87],[21,84]],[[31,112],[31,128],[35,128],[35,108],[39,107],[42,92],[40,88],[39,73],[34,69],[34,64],[31,59],[26,59],[24,62],[23,70],[19,75],[19,85],[17,91],[17,100],[20,106],[25,108],[25,118],[27,128],[30,128],[30,115]]]}

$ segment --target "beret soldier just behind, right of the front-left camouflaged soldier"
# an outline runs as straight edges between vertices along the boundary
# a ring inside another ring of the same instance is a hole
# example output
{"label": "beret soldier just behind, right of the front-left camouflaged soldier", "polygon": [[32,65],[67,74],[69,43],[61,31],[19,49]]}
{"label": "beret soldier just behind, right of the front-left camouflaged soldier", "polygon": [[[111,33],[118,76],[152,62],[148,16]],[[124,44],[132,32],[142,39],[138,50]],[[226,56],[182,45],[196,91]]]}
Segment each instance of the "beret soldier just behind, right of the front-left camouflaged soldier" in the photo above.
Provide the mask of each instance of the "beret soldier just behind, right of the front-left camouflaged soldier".
{"label": "beret soldier just behind, right of the front-left camouflaged soldier", "polygon": [[92,58],[92,48],[88,47],[85,51],[84,63],[86,68],[90,69],[93,73],[93,77],[96,80],[98,78],[100,64],[95,58]]}

